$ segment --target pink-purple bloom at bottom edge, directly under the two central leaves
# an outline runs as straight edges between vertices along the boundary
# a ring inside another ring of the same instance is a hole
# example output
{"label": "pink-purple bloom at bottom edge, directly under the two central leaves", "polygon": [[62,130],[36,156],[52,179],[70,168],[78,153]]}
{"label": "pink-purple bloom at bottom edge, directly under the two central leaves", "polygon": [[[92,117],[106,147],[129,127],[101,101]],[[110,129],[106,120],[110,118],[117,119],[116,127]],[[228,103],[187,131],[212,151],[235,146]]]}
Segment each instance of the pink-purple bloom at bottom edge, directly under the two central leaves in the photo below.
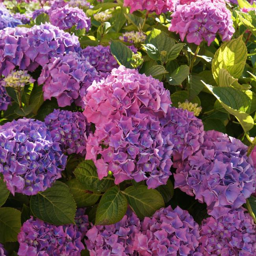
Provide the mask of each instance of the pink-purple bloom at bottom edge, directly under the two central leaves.
{"label": "pink-purple bloom at bottom edge, directly under the two central leaves", "polygon": [[138,217],[130,210],[121,221],[108,226],[92,226],[86,233],[85,245],[91,256],[134,254],[134,237],[140,230]]}

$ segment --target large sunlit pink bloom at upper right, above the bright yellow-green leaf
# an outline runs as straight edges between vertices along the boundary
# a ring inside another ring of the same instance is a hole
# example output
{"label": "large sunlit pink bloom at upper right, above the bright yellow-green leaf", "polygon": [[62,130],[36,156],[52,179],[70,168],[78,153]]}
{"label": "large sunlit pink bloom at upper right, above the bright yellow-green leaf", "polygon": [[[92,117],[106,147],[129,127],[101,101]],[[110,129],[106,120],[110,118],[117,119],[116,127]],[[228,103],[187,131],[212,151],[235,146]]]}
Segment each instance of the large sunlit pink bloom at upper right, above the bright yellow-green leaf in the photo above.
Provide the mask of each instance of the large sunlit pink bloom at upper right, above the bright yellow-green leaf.
{"label": "large sunlit pink bloom at upper right, above the bright yellow-green leaf", "polygon": [[208,46],[220,35],[222,41],[232,38],[235,29],[230,11],[220,2],[211,0],[198,0],[190,4],[178,5],[171,15],[169,30],[185,37],[188,43],[200,45],[206,40]]}

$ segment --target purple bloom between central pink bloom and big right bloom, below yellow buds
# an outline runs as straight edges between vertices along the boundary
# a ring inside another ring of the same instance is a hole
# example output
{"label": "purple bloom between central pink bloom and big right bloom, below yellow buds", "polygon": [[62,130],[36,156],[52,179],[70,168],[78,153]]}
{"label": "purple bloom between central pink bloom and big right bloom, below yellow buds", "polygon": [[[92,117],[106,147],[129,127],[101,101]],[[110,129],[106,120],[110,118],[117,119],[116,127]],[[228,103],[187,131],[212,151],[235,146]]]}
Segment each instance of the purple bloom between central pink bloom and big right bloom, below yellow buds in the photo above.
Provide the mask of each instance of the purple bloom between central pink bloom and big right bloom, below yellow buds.
{"label": "purple bloom between central pink bloom and big right bloom, below yellow buds", "polygon": [[195,153],[204,141],[202,121],[182,108],[171,107],[167,112],[166,126],[163,130],[168,145],[173,145],[173,166]]}

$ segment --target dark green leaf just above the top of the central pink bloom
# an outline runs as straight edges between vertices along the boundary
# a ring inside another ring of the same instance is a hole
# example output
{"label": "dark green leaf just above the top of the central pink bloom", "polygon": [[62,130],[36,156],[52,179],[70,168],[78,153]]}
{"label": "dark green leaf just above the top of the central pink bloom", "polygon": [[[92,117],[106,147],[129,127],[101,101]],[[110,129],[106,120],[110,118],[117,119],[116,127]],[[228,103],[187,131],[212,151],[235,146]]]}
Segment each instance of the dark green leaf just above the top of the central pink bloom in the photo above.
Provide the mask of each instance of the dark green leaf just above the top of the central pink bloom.
{"label": "dark green leaf just above the top of the central pink bloom", "polygon": [[121,42],[112,41],[110,50],[120,65],[132,69],[132,51],[126,45]]}

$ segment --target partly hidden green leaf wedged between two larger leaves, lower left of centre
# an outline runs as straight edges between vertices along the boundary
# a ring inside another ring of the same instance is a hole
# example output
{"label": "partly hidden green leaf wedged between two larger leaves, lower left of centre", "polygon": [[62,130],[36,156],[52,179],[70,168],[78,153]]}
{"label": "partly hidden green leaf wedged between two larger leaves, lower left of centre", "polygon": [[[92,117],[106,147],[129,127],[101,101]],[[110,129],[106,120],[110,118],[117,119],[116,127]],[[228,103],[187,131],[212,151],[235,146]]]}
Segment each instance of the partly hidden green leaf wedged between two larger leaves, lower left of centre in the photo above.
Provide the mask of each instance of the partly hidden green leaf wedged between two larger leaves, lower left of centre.
{"label": "partly hidden green leaf wedged between two larger leaves, lower left of centre", "polygon": [[83,187],[77,179],[69,180],[67,183],[74,197],[77,207],[85,207],[95,204],[100,198],[100,193],[94,193]]}

